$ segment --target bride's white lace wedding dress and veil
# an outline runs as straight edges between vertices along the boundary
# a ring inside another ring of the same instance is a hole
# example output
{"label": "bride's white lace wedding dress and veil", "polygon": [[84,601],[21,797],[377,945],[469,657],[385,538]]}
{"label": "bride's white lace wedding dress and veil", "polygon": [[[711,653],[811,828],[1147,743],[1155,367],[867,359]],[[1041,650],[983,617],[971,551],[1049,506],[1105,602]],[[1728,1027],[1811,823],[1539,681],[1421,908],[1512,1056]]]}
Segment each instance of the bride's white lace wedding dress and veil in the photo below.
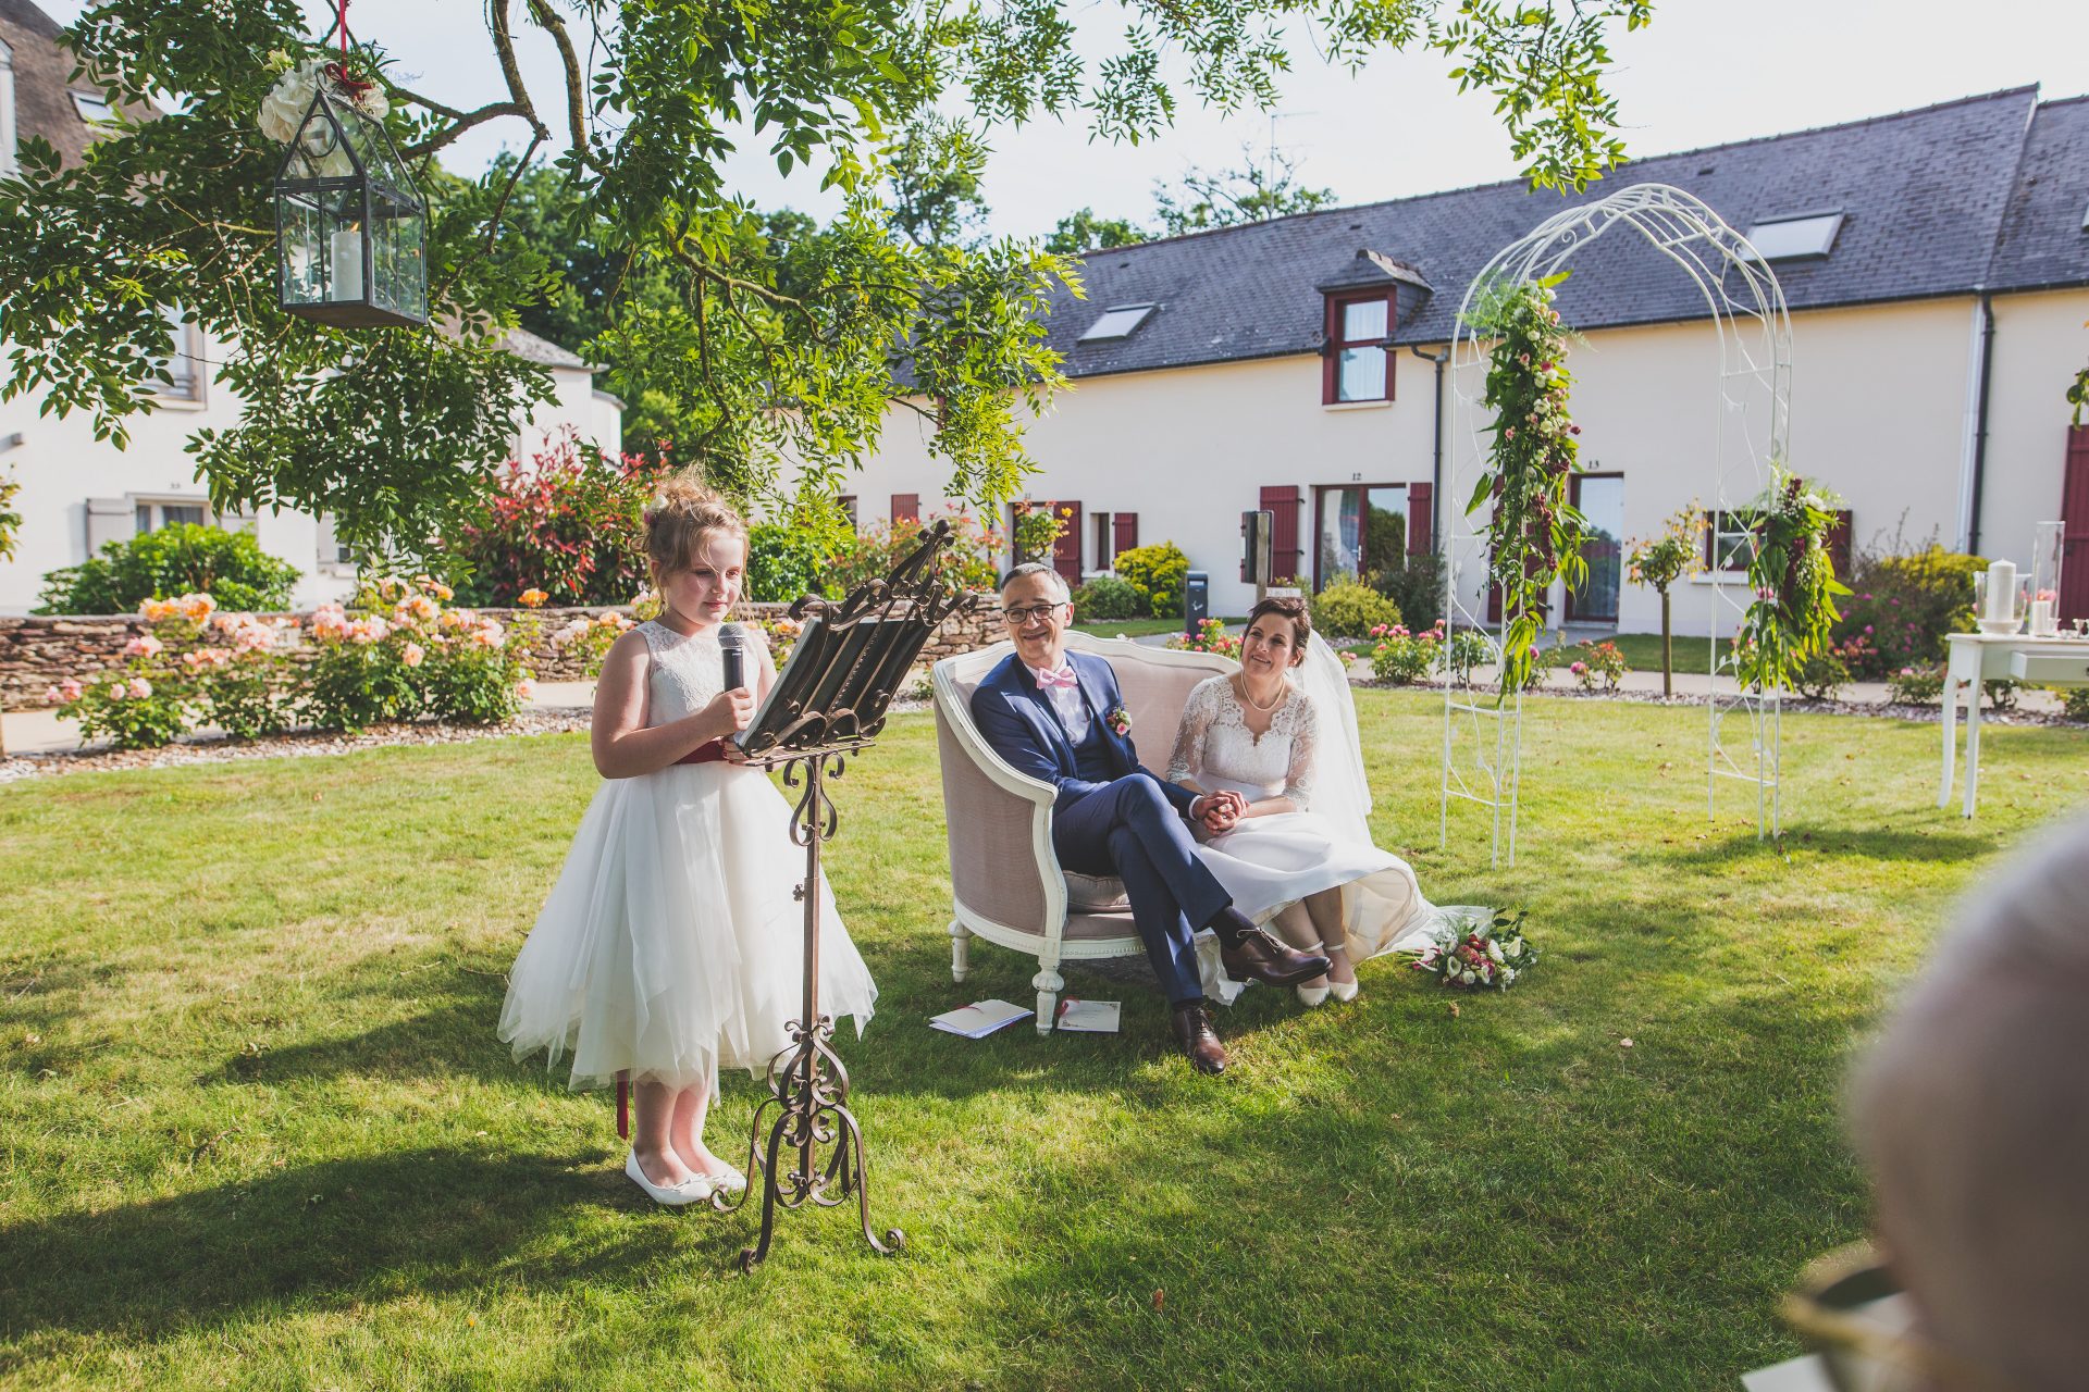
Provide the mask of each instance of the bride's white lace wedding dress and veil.
{"label": "bride's white lace wedding dress and veil", "polygon": [[[1370,843],[1364,820],[1370,791],[1356,749],[1349,685],[1333,649],[1318,637],[1312,645],[1306,670],[1287,682],[1260,737],[1247,728],[1230,678],[1197,682],[1176,730],[1168,781],[1212,793],[1230,789],[1249,801],[1289,797],[1297,806],[1247,818],[1197,847],[1233,906],[1255,922],[1310,893],[1341,889],[1352,962],[1421,947],[1485,910],[1429,904],[1408,862]],[[1318,701],[1306,687],[1318,687]],[[1322,776],[1337,785],[1324,812],[1316,793]]]}

